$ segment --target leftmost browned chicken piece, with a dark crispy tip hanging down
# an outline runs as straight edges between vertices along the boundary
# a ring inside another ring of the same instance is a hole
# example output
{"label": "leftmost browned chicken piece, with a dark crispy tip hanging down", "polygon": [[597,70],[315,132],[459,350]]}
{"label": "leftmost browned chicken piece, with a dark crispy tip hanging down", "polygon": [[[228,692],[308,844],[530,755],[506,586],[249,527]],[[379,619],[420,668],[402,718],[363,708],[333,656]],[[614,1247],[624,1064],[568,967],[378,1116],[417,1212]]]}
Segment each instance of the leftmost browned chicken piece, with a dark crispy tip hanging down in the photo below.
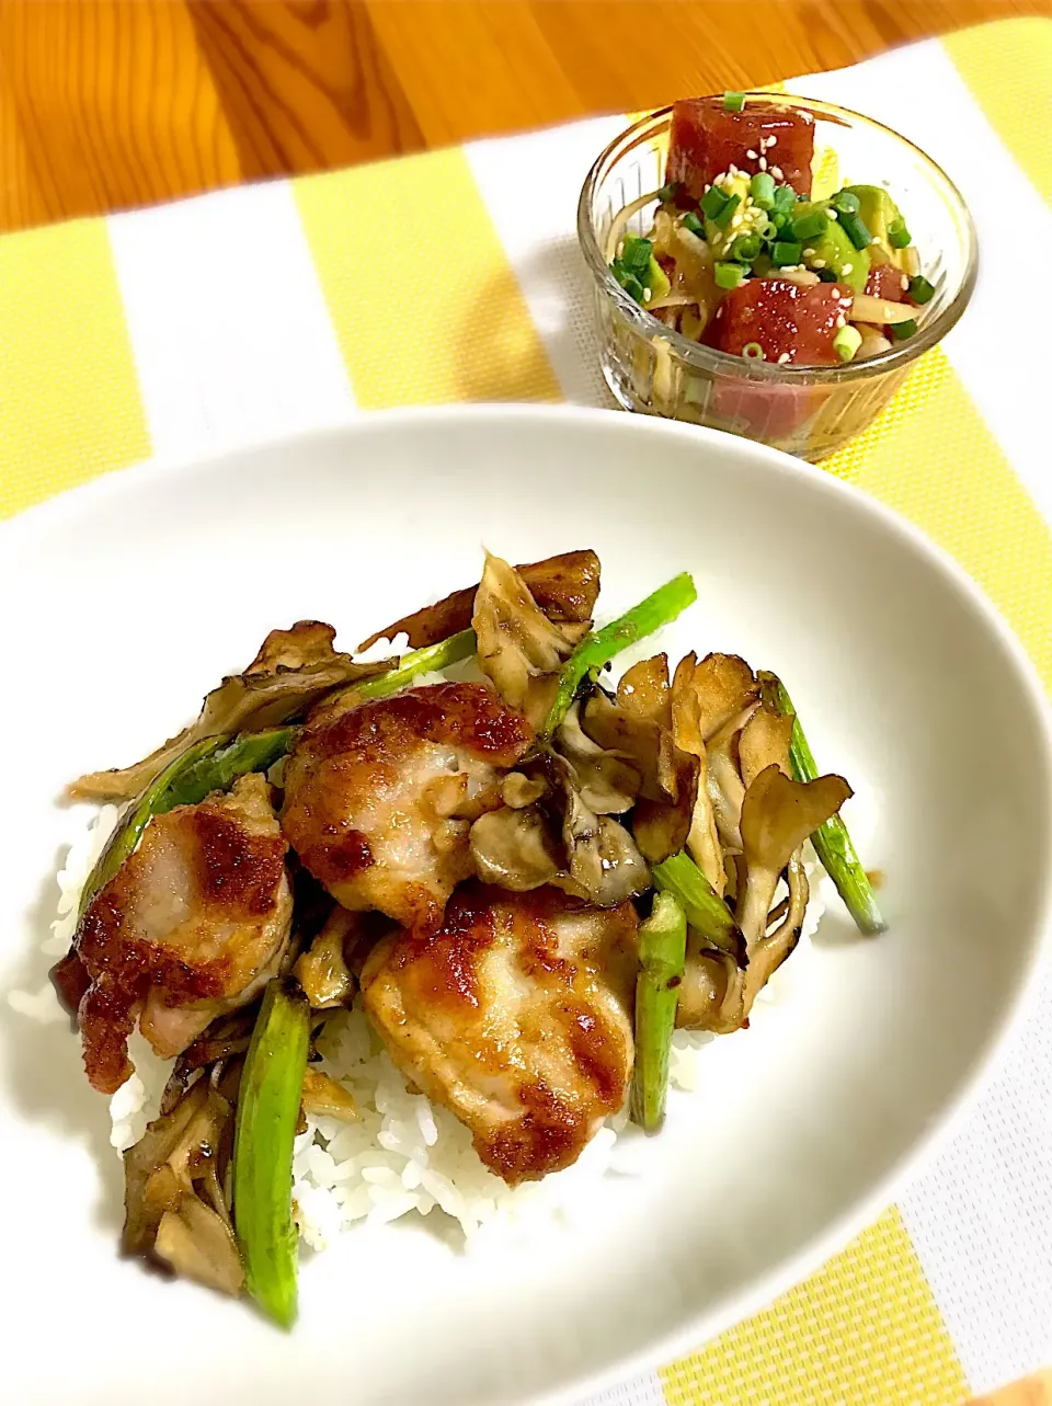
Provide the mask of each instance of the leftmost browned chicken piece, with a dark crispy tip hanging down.
{"label": "leftmost browned chicken piece, with a dark crispy tip hanging down", "polygon": [[131,1074],[136,1019],[167,1059],[277,972],[293,918],[286,851],[257,773],[153,817],[76,936],[90,979],[79,1008],[84,1066],[97,1090]]}

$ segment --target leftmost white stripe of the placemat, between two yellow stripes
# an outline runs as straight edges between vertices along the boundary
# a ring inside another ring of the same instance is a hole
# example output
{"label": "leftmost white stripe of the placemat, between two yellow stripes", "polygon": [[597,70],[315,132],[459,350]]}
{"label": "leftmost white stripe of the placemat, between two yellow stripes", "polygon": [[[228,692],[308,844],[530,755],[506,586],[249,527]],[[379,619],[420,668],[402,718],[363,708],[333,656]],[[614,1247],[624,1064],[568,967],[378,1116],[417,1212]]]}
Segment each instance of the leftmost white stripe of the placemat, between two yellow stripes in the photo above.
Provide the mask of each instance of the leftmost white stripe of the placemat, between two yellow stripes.
{"label": "leftmost white stripe of the placemat, between two yellow stripes", "polygon": [[110,239],[156,454],[353,408],[287,181],[114,215]]}

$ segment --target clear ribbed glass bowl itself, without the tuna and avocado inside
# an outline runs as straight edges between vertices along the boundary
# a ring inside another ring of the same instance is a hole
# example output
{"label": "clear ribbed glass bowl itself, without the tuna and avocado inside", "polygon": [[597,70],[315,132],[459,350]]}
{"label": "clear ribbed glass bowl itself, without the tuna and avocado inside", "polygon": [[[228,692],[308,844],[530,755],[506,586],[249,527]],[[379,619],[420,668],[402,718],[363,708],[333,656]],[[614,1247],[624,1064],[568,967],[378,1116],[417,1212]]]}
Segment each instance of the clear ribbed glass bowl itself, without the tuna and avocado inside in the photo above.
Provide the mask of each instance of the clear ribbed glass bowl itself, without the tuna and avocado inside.
{"label": "clear ribbed glass bowl itself, without the tuna and avocado inside", "polygon": [[[851,181],[890,191],[935,287],[913,337],[865,361],[778,366],[699,346],[644,312],[610,276],[605,246],[617,211],[664,180],[668,107],[634,122],[599,156],[581,190],[578,239],[595,278],[603,375],[626,409],[710,425],[814,463],[869,425],[917,357],[965,311],[977,271],[976,233],[956,186],[897,132],[831,103],[766,93],[748,100],[812,114],[816,197]],[[644,235],[654,208],[644,207],[629,229]]]}

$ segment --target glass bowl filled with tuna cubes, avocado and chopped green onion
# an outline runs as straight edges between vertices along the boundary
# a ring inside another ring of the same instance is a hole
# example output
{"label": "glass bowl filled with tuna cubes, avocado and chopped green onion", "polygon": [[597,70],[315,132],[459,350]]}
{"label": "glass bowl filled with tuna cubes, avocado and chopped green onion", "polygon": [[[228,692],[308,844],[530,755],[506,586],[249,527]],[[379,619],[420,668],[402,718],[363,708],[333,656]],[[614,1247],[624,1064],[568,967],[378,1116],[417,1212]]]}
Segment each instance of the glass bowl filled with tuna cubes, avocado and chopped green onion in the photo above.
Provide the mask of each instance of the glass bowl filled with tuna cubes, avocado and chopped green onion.
{"label": "glass bowl filled with tuna cubes, avocado and chopped green onion", "polygon": [[810,460],[865,429],[976,274],[968,211],[923,152],[772,94],[629,128],[585,181],[578,232],[622,405]]}

